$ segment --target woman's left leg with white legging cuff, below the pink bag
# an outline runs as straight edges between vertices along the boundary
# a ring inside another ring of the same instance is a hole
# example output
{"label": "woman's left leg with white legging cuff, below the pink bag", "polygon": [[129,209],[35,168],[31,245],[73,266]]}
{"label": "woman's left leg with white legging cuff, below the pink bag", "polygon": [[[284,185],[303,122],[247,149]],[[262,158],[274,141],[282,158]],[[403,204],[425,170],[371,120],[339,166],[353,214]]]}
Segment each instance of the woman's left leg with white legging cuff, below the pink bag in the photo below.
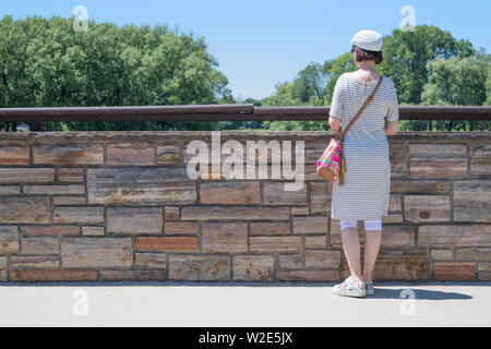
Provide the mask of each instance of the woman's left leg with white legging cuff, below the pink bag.
{"label": "woman's left leg with white legging cuff, below the pink bag", "polygon": [[361,281],[360,238],[358,237],[357,221],[340,221],[343,249],[348,261],[351,278]]}

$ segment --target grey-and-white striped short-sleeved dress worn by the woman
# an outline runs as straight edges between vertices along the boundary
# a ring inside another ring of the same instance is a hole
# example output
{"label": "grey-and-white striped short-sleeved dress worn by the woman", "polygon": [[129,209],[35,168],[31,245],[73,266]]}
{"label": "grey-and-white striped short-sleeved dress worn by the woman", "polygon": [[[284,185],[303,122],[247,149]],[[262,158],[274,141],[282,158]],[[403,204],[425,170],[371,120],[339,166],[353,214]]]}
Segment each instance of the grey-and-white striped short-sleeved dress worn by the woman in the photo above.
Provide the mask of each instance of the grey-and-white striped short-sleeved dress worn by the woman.
{"label": "grey-and-white striped short-sleeved dress worn by the woman", "polygon": [[[355,118],[378,81],[362,82],[342,74],[334,88],[330,116],[343,130]],[[346,172],[344,185],[333,184],[331,218],[380,219],[388,214],[391,163],[385,120],[397,120],[398,101],[394,82],[385,77],[371,104],[351,125],[343,141]]]}

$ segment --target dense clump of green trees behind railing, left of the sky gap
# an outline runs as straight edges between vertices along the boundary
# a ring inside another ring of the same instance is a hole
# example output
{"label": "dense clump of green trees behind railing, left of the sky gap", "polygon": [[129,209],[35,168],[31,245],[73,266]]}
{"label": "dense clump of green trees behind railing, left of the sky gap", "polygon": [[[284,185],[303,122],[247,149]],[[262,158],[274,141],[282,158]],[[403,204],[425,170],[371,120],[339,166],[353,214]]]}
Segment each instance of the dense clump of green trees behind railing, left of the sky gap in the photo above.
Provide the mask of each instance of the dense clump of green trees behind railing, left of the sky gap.
{"label": "dense clump of green trees behind railing, left of the sky gap", "polygon": [[[0,21],[0,107],[233,103],[204,38],[157,25]],[[20,120],[22,121],[22,120]],[[2,124],[4,127],[4,124]],[[50,122],[46,130],[214,129],[216,122]]]}

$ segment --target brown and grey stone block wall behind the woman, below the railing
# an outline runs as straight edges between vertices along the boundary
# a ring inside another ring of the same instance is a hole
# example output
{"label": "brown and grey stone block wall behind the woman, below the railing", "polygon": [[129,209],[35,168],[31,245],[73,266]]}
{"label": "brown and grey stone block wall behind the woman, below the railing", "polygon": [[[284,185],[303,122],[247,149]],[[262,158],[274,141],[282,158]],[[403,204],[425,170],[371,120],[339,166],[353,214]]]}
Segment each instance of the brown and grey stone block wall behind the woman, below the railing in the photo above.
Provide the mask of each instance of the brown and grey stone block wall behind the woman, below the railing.
{"label": "brown and grey stone block wall behind the woman, below the railing", "polygon": [[[315,173],[332,135],[221,132],[221,143],[291,141],[294,155],[303,141],[304,185],[285,191],[285,177],[190,179],[187,146],[211,132],[2,133],[0,280],[340,280],[339,221]],[[375,280],[490,280],[491,135],[388,142]]]}

